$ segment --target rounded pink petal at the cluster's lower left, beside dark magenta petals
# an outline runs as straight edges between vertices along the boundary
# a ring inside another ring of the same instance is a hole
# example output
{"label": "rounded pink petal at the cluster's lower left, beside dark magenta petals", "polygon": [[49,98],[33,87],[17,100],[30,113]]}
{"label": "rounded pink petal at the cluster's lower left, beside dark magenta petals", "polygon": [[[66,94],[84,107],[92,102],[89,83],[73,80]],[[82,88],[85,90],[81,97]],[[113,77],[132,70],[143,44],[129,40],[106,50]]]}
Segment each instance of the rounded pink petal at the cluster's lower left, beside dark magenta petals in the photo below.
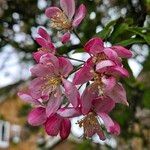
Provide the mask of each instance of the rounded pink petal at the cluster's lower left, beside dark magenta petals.
{"label": "rounded pink petal at the cluster's lower left, beside dark magenta petals", "polygon": [[45,121],[46,113],[43,107],[33,109],[28,115],[28,123],[32,126],[42,125]]}

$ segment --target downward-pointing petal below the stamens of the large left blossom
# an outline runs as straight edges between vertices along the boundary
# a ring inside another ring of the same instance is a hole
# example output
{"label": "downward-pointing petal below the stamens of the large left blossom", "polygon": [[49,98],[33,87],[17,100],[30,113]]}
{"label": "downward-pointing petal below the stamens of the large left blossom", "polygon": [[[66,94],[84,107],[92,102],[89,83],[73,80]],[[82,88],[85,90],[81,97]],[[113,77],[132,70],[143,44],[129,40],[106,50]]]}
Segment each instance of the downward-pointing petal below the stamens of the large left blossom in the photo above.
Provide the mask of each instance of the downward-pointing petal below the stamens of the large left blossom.
{"label": "downward-pointing petal below the stamens of the large left blossom", "polygon": [[56,113],[56,111],[58,110],[58,108],[60,107],[61,102],[62,102],[61,96],[62,96],[62,93],[61,93],[60,89],[57,91],[57,93],[51,94],[51,96],[48,100],[47,107],[46,107],[47,117]]}

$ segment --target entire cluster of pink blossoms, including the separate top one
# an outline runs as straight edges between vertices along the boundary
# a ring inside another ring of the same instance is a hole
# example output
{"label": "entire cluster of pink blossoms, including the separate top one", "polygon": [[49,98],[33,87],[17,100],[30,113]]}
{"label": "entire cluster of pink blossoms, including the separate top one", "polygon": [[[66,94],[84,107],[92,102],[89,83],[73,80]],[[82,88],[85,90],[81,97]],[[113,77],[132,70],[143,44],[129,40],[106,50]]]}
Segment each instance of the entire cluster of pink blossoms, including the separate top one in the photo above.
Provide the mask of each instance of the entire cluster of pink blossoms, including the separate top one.
{"label": "entire cluster of pink blossoms, including the separate top one", "polygon": [[[60,5],[62,10],[49,7],[45,14],[51,19],[53,28],[65,31],[62,37],[65,43],[70,38],[70,31],[85,17],[86,8],[82,4],[75,13],[74,0],[60,0]],[[47,31],[39,28],[38,34],[36,42],[41,47],[33,54],[37,64],[30,70],[34,79],[27,91],[18,93],[22,100],[35,106],[28,115],[29,124],[43,125],[48,135],[59,134],[66,139],[70,134],[71,119],[83,116],[76,124],[83,128],[85,138],[97,134],[105,140],[105,132],[118,135],[119,124],[109,113],[116,103],[128,105],[119,78],[129,76],[122,58],[130,58],[132,53],[122,46],[105,47],[102,39],[95,37],[84,46],[90,58],[74,71],[69,59],[57,55]],[[74,72],[71,82],[68,77]],[[79,85],[85,85],[83,92],[79,92]]]}

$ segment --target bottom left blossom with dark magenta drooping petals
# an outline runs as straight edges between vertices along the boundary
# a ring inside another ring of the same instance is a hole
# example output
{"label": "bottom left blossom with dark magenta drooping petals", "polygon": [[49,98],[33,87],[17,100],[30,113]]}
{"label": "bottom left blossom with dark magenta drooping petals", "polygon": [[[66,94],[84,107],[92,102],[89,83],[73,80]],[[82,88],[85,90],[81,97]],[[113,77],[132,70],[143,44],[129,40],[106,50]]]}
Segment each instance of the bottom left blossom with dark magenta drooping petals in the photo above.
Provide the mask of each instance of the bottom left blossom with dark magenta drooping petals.
{"label": "bottom left blossom with dark magenta drooping petals", "polygon": [[79,110],[72,107],[60,108],[58,112],[47,117],[44,107],[34,108],[28,115],[28,123],[32,126],[44,125],[45,131],[50,136],[57,136],[64,140],[70,134],[70,118],[79,116]]}

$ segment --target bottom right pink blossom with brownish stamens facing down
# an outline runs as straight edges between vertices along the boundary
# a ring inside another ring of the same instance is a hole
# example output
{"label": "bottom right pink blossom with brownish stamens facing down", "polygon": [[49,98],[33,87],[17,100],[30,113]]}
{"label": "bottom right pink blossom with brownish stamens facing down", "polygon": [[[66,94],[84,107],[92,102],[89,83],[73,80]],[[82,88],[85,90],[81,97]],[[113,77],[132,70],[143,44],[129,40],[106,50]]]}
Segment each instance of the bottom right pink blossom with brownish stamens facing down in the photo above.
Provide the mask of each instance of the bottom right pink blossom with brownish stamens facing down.
{"label": "bottom right pink blossom with brownish stamens facing down", "polygon": [[[87,102],[88,100],[89,99],[87,99]],[[109,97],[93,99],[90,111],[86,110],[89,106],[85,101],[81,105],[82,112],[85,116],[82,120],[78,121],[78,124],[84,128],[85,137],[92,137],[94,134],[97,134],[101,140],[105,140],[106,137],[102,129],[102,124],[104,124],[107,132],[115,135],[120,133],[118,123],[114,122],[108,115],[115,107],[115,102],[112,99]],[[100,118],[103,120],[103,123],[100,122]]]}

